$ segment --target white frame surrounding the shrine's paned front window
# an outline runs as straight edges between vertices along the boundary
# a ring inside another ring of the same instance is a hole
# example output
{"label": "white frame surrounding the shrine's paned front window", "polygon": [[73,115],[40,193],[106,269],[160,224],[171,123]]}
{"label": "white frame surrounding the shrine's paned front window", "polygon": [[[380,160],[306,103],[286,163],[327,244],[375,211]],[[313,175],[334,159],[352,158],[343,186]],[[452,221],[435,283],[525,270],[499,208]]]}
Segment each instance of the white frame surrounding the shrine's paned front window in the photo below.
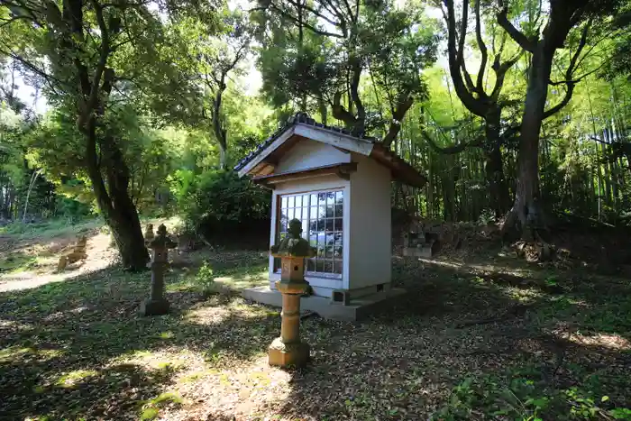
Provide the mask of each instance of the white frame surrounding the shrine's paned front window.
{"label": "white frame surrounding the shrine's paned front window", "polygon": [[[334,151],[337,151],[334,148],[332,149]],[[295,193],[314,192],[314,191],[315,192],[328,191],[328,190],[333,190],[333,189],[335,190],[343,189],[344,191],[343,255],[344,257],[348,256],[349,243],[350,243],[350,231],[348,230],[348,227],[349,227],[348,221],[349,221],[350,212],[351,212],[350,206],[349,206],[350,197],[351,197],[351,182],[343,178],[336,177],[336,176],[305,178],[305,179],[301,179],[297,181],[280,183],[277,185],[277,188],[274,189],[274,192],[271,197],[272,210],[271,210],[271,227],[270,227],[271,228],[270,229],[270,246],[273,245],[276,241],[275,233],[276,233],[276,224],[277,224],[277,212],[279,210],[277,206],[279,196],[295,194]],[[274,273],[274,259],[271,256],[270,256],[269,274],[270,274],[270,288],[275,288],[274,282],[280,279],[280,275],[278,273]],[[341,279],[306,277],[306,280],[314,288],[315,295],[328,298],[328,297],[331,297],[331,291],[333,289],[346,288],[345,286],[347,285],[348,277],[349,277],[349,260],[344,259],[343,274],[342,274]]]}

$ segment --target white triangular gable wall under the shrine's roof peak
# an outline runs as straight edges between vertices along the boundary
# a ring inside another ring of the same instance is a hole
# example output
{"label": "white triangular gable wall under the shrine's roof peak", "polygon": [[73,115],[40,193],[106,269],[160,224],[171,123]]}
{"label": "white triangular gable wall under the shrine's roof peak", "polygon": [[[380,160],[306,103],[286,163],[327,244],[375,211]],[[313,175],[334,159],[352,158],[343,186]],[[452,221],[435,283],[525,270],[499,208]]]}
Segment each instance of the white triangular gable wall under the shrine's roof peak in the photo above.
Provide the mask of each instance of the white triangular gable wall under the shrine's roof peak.
{"label": "white triangular gable wall under the shrine's roof peak", "polygon": [[351,162],[351,154],[323,142],[303,139],[285,153],[274,172],[298,171],[341,162]]}

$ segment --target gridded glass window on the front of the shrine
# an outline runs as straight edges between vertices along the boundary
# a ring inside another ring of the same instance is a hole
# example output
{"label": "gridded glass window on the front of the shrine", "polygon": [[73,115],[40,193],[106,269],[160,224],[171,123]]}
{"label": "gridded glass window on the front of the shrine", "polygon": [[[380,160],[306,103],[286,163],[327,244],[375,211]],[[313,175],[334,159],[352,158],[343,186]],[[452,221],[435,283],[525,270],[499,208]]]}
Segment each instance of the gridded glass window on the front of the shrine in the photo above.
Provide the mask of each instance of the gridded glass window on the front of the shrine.
{"label": "gridded glass window on the front of the shrine", "polygon": [[[315,247],[315,257],[306,261],[306,275],[342,276],[343,197],[342,190],[280,197],[278,241],[287,236],[289,221],[297,218],[303,238]],[[280,259],[274,260],[274,270],[280,272]]]}

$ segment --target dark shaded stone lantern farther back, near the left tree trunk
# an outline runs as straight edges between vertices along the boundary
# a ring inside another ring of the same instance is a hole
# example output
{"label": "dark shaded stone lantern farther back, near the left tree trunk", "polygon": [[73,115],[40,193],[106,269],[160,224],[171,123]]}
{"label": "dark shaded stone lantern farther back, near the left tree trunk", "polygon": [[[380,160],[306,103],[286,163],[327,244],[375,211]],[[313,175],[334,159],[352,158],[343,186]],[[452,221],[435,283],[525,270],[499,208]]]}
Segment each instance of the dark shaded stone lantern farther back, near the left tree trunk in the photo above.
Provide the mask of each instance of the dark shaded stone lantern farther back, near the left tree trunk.
{"label": "dark shaded stone lantern farther back, near the left tree trunk", "polygon": [[158,235],[151,240],[149,248],[153,250],[151,258],[151,296],[142,302],[143,316],[158,316],[169,313],[169,301],[164,297],[164,272],[169,265],[169,249],[177,243],[167,236],[167,227],[160,224]]}

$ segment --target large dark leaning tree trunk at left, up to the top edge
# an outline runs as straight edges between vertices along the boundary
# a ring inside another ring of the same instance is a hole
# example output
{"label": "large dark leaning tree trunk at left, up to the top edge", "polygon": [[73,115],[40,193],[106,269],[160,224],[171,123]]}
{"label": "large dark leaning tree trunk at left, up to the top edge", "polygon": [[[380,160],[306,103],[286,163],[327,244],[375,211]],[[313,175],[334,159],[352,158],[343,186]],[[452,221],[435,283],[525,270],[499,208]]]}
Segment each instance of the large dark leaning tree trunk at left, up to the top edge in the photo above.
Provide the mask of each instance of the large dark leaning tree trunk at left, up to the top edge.
{"label": "large dark leaning tree trunk at left, up to the top edge", "polygon": [[[55,7],[54,3],[51,4],[51,7]],[[82,61],[85,54],[81,54],[82,43],[86,42],[84,6],[86,2],[82,0],[63,0],[62,12],[53,11],[60,14],[63,24],[59,24],[59,28],[65,32],[60,37],[62,53],[59,56],[60,59],[71,60],[76,70],[79,88],[79,95],[75,97],[78,105],[77,127],[86,141],[86,168],[92,181],[96,204],[114,234],[123,266],[126,269],[142,270],[146,268],[149,255],[142,238],[138,213],[128,191],[129,169],[123,160],[123,153],[106,130],[103,142],[99,143],[98,155],[96,149],[97,122],[103,119],[105,103],[114,83],[114,70],[107,67],[112,52],[108,30],[114,31],[114,28],[105,23],[105,5],[92,2],[89,9],[94,12],[98,23],[100,46],[96,66],[88,68],[86,63],[91,60]],[[60,61],[54,64],[57,66],[67,63]],[[67,69],[57,66],[56,71],[65,72]],[[107,186],[103,179],[104,174],[107,177]]]}

